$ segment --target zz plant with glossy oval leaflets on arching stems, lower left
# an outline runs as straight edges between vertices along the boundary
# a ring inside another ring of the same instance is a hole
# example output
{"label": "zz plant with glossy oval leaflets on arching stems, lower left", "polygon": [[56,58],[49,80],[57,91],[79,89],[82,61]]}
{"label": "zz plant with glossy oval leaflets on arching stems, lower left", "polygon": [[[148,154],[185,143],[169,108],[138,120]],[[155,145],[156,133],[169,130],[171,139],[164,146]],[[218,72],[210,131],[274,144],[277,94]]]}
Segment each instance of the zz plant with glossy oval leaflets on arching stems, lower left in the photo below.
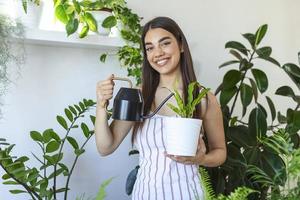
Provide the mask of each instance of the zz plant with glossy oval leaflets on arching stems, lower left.
{"label": "zz plant with glossy oval leaflets on arching stems, lower left", "polygon": [[[38,166],[27,165],[26,162],[30,160],[27,156],[12,155],[15,145],[0,138],[0,166],[5,171],[2,179],[3,184],[16,187],[16,189],[10,190],[11,193],[27,193],[32,199],[38,200],[58,199],[58,193],[63,193],[63,199],[68,199],[71,176],[79,157],[85,152],[85,145],[94,134],[94,131],[85,122],[78,121],[85,117],[94,105],[94,101],[83,99],[78,104],[65,108],[65,117],[60,115],[56,117],[57,122],[65,130],[64,134],[58,134],[53,129],[30,132],[30,137],[41,150],[39,154],[32,153],[32,158],[39,163]],[[90,115],[89,118],[94,124],[95,117]],[[71,131],[77,128],[81,129],[84,136],[81,143],[71,136]],[[74,149],[74,161],[71,166],[67,166],[63,162],[66,144]],[[59,177],[64,177],[64,185],[58,184]]]}

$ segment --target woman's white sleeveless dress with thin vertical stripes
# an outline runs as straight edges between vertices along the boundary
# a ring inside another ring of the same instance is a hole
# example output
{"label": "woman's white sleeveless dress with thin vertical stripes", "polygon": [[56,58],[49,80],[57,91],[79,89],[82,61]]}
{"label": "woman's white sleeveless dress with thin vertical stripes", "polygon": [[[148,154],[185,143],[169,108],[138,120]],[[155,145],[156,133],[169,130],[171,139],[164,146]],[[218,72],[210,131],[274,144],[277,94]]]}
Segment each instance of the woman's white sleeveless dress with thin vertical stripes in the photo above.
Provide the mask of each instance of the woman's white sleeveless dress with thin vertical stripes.
{"label": "woman's white sleeveless dress with thin vertical stripes", "polygon": [[140,152],[140,168],[132,200],[203,200],[198,166],[181,164],[164,155],[166,117],[146,119],[138,130],[134,144]]}

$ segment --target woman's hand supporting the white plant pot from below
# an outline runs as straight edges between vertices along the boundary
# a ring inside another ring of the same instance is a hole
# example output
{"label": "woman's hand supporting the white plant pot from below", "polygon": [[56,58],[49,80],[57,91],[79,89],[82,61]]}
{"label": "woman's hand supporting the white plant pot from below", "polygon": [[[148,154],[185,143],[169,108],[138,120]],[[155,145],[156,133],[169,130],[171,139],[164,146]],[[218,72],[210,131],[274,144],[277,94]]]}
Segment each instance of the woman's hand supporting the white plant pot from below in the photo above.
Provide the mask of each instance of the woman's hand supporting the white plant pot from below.
{"label": "woman's hand supporting the white plant pot from below", "polygon": [[176,155],[170,155],[165,154],[168,158],[180,162],[186,165],[203,165],[204,164],[204,158],[206,155],[206,146],[202,139],[202,136],[199,137],[197,152],[195,156],[176,156]]}

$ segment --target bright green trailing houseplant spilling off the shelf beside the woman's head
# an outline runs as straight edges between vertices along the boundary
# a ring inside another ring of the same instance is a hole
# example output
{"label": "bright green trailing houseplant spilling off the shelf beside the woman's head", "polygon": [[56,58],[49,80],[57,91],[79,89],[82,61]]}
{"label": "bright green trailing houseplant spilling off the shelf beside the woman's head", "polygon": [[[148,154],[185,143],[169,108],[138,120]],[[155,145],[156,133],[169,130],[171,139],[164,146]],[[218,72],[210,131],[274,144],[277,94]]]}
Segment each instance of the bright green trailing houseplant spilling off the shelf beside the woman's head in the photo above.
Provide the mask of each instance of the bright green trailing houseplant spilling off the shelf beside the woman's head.
{"label": "bright green trailing houseplant spilling off the shelf beside the woman's head", "polygon": [[[79,24],[82,25],[79,37],[84,38],[89,31],[96,32],[100,28],[120,29],[125,45],[120,47],[117,53],[106,52],[100,56],[100,61],[105,62],[107,56],[117,56],[121,65],[127,68],[128,76],[141,82],[141,18],[129,9],[124,0],[97,0],[97,1],[55,1],[55,16],[66,25],[67,35],[76,32]],[[107,17],[102,27],[96,23],[89,10],[111,10],[112,16]]]}

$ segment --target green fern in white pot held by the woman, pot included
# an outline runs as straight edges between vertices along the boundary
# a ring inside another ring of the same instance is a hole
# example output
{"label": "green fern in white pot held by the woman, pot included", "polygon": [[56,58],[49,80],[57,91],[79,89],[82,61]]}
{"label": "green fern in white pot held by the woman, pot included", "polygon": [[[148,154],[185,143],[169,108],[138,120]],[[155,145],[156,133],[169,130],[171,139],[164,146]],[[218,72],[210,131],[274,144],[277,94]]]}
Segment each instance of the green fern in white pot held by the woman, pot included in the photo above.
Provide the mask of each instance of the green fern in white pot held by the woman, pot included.
{"label": "green fern in white pot held by the woman, pot included", "polygon": [[[197,105],[209,91],[209,89],[201,88],[198,82],[192,82],[188,85],[187,102],[185,102],[179,92],[175,90],[174,97],[177,106],[171,103],[167,104],[167,106],[179,116],[168,117],[165,121],[168,154],[195,156],[202,120],[192,117]],[[200,90],[199,94],[194,95],[195,89]]]}

